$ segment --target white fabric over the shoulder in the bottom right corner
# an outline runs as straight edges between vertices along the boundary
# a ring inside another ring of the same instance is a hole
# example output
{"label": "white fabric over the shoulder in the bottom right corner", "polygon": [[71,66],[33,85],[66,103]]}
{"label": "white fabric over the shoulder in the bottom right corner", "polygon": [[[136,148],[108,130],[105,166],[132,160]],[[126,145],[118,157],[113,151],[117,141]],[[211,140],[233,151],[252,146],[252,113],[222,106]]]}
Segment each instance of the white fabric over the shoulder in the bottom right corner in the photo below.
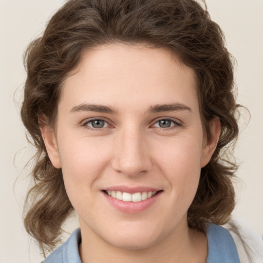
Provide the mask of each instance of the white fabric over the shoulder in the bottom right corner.
{"label": "white fabric over the shoulder in the bottom right corner", "polygon": [[236,244],[240,263],[263,263],[262,237],[250,229],[230,222],[223,226],[226,228]]}

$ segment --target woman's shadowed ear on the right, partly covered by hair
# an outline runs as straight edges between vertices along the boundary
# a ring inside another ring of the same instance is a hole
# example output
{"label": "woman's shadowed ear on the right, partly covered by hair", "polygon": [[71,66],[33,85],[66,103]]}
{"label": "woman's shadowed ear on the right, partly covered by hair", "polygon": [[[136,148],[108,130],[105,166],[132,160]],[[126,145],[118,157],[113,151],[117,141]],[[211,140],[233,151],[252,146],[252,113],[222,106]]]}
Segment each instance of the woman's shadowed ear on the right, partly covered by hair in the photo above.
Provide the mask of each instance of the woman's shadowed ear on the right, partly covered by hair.
{"label": "woman's shadowed ear on the right, partly covered by hair", "polygon": [[221,132],[221,124],[218,118],[214,118],[209,122],[210,126],[210,138],[204,140],[201,167],[204,167],[209,163],[219,140]]}

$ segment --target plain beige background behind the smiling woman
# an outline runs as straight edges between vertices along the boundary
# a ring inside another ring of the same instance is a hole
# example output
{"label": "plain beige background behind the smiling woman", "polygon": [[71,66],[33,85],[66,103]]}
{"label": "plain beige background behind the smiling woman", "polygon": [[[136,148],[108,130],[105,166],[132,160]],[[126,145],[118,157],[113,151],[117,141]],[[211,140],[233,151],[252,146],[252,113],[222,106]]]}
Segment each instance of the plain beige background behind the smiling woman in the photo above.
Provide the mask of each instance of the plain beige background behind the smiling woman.
{"label": "plain beige background behind the smiling woman", "polygon": [[[28,187],[28,179],[24,179],[28,170],[22,171],[22,168],[33,153],[19,116],[26,76],[22,55],[26,45],[42,32],[50,15],[63,2],[0,0],[0,263],[42,260],[34,242],[25,233],[22,221],[23,199]],[[236,184],[234,217],[262,235],[263,1],[207,0],[207,4],[237,60],[238,102],[251,112],[248,127],[245,127],[248,115],[241,119],[243,131],[235,151],[241,163],[237,174],[242,182]],[[71,231],[77,226],[73,218],[66,228]]]}

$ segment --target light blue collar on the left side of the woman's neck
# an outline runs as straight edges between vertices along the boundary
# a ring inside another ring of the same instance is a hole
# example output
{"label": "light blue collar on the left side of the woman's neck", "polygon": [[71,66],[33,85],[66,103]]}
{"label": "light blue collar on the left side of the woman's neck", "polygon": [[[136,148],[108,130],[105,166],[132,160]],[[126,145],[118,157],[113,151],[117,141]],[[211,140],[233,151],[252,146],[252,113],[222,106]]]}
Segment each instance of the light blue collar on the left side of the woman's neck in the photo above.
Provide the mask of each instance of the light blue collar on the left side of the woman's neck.
{"label": "light blue collar on the left side of the woman's neck", "polygon": [[79,244],[81,243],[80,229],[76,229],[67,241],[55,249],[43,263],[81,263],[79,256]]}

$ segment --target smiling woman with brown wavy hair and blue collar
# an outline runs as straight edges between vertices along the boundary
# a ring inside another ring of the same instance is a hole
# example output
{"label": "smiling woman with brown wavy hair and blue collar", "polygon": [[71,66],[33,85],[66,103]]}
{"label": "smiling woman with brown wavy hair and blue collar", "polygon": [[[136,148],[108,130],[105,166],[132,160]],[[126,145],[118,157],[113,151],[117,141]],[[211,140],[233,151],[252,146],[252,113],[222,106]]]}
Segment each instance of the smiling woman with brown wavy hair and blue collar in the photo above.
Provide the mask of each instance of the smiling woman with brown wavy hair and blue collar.
{"label": "smiling woman with brown wavy hair and blue collar", "polygon": [[[28,47],[25,226],[44,262],[240,262],[231,55],[192,0],[68,1]],[[246,248],[241,248],[245,249]],[[239,254],[239,255],[238,255]]]}

